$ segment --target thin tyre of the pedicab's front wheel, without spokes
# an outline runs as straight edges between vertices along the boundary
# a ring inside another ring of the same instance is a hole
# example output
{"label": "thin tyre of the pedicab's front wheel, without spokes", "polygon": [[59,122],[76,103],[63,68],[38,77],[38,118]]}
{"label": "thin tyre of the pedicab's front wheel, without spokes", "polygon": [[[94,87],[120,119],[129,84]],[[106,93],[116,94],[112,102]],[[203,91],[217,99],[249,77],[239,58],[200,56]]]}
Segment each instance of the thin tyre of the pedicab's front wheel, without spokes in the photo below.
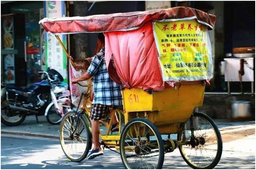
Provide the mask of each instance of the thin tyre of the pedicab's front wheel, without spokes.
{"label": "thin tyre of the pedicab's front wheel, without spokes", "polygon": [[[62,117],[62,121],[61,121],[61,123],[60,123],[60,133],[61,133],[61,126],[63,125],[63,124],[62,124],[62,123],[63,123],[63,120],[65,120],[65,117],[68,116],[69,114],[76,114],[76,111],[73,111],[73,110],[72,110],[72,111],[68,111],[68,112]],[[80,120],[83,121],[84,125],[86,126],[85,128],[86,128],[86,132],[87,132],[87,138],[88,138],[87,141],[88,141],[88,142],[87,142],[87,145],[86,145],[86,148],[85,148],[85,151],[84,151],[82,157],[80,157],[80,159],[72,159],[72,158],[70,158],[70,157],[65,153],[65,151],[64,151],[64,149],[63,149],[63,147],[62,147],[62,144],[61,144],[61,139],[60,139],[60,145],[61,145],[62,151],[64,152],[64,154],[66,155],[66,157],[67,157],[68,159],[70,159],[70,161],[73,161],[73,162],[81,162],[81,161],[83,161],[83,160],[86,158],[86,156],[88,155],[89,150],[90,150],[91,147],[92,147],[93,140],[92,140],[92,134],[91,134],[90,123],[88,122],[88,119],[87,119],[87,117],[86,117],[85,114],[86,114],[86,113],[83,113],[82,119],[80,119]],[[60,136],[61,136],[61,135],[60,135]]]}

